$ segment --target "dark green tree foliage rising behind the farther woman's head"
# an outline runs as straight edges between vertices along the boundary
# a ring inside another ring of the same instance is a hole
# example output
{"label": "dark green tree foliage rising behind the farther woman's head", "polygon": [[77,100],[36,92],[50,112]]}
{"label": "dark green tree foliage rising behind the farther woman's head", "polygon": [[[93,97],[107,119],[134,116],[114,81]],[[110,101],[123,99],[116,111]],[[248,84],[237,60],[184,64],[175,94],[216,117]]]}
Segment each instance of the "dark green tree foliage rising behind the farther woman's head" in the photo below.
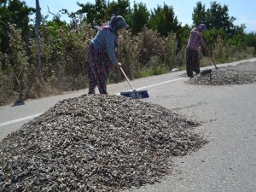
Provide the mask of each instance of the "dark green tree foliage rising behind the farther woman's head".
{"label": "dark green tree foliage rising behind the farther woman's head", "polygon": [[206,24],[208,31],[205,34],[206,41],[212,46],[218,38],[221,38],[226,44],[236,46],[242,49],[244,44],[245,26],[236,26],[235,17],[229,15],[228,6],[212,2],[210,8],[201,2],[196,3],[194,13],[192,14],[193,24],[198,26],[201,23]]}

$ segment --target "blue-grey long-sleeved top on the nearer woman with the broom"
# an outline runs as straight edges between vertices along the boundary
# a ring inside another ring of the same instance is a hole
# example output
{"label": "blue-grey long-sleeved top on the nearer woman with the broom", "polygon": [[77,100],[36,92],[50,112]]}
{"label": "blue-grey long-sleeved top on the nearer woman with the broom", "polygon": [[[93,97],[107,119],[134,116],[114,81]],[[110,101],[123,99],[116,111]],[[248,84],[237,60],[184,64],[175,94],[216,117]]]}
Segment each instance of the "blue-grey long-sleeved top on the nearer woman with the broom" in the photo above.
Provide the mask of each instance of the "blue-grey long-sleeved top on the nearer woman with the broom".
{"label": "blue-grey long-sleeved top on the nearer woman with the broom", "polygon": [[109,59],[113,65],[118,65],[118,60],[115,55],[116,43],[118,37],[110,29],[99,30],[96,37],[91,40],[91,43],[96,49],[105,49],[108,53]]}

